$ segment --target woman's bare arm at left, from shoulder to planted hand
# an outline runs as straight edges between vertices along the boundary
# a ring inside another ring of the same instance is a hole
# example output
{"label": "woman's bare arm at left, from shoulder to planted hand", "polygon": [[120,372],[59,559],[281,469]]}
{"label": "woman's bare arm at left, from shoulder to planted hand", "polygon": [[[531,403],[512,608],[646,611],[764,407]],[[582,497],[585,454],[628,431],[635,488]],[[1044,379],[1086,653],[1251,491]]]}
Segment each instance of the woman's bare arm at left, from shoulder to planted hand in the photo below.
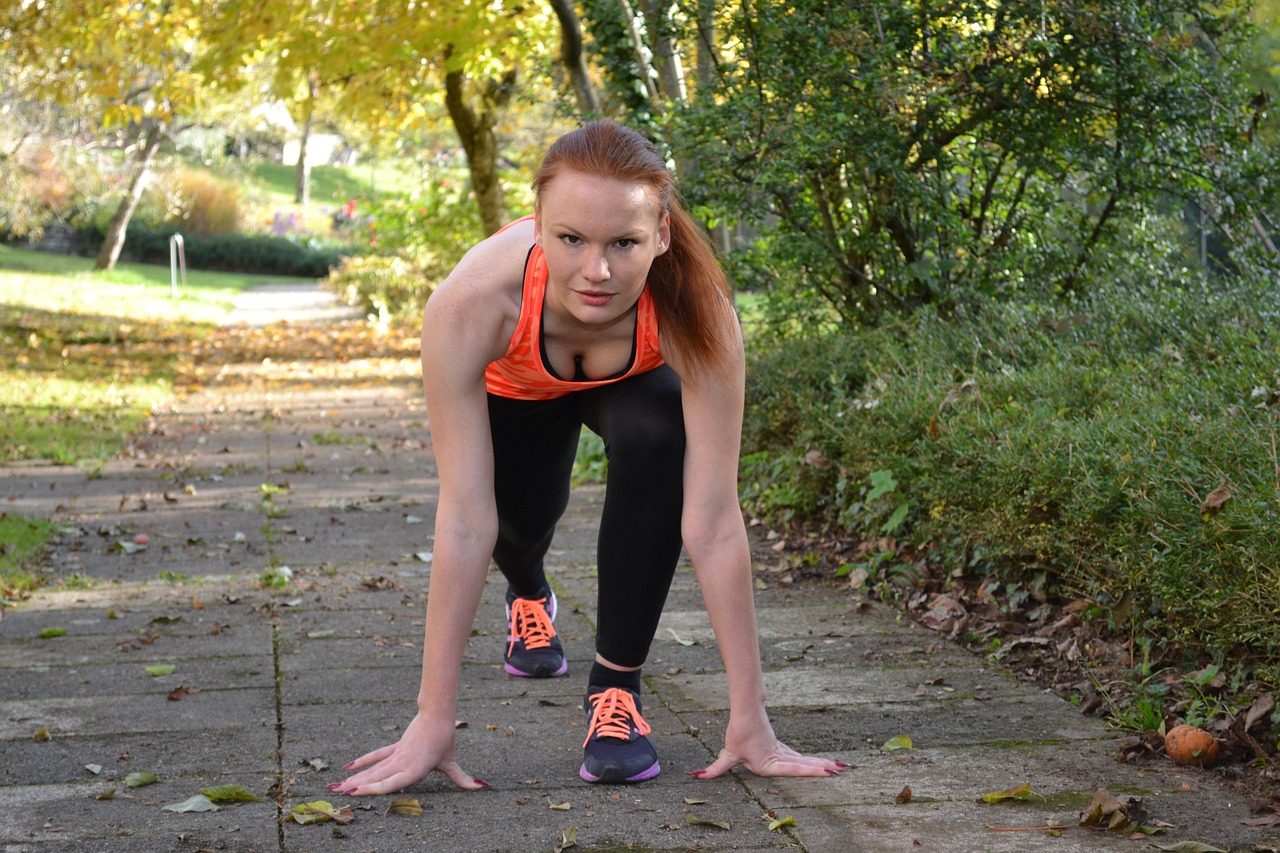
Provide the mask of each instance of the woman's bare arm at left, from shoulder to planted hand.
{"label": "woman's bare arm at left, from shoulder to planted hand", "polygon": [[361,756],[347,766],[360,772],[330,785],[347,794],[390,793],[433,770],[460,788],[485,786],[454,761],[454,721],[462,656],[498,535],[484,370],[511,336],[503,277],[511,277],[504,247],[512,245],[495,238],[472,250],[422,316],[422,386],[440,488],[417,716],[398,743]]}

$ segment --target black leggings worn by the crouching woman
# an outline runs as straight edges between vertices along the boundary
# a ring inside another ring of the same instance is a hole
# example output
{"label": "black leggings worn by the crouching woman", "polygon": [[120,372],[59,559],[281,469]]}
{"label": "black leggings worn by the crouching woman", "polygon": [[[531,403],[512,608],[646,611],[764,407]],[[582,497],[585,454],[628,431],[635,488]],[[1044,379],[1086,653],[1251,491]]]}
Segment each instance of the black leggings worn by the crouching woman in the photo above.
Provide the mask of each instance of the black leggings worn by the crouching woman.
{"label": "black leggings worn by the crouching woman", "polygon": [[536,594],[564,507],[582,424],[604,439],[609,474],[596,546],[595,651],[641,666],[680,560],[685,421],[680,379],[655,370],[557,400],[489,394],[498,544],[520,596]]}

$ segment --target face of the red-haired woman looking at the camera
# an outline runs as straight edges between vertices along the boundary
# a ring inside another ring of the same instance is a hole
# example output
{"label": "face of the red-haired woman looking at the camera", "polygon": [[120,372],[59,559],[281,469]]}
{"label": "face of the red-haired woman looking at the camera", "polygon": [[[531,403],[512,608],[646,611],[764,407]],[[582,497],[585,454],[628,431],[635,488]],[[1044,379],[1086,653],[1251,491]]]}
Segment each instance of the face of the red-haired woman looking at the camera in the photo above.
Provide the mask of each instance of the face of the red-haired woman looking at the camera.
{"label": "face of the red-haired woman looking at the camera", "polygon": [[534,234],[547,255],[545,310],[607,327],[640,298],[668,218],[645,183],[563,170],[541,190]]}

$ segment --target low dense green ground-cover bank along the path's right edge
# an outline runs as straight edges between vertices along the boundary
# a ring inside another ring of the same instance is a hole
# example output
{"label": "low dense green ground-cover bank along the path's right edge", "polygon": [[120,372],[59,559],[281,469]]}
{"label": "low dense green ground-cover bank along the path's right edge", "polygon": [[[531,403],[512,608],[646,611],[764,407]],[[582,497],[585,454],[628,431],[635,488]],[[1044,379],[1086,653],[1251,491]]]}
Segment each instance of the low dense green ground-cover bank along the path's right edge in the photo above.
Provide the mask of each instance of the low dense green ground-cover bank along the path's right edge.
{"label": "low dense green ground-cover bank along the path's right edge", "polygon": [[1276,680],[1280,297],[1166,282],[764,339],[749,510],[1038,576],[1162,653],[1239,653]]}

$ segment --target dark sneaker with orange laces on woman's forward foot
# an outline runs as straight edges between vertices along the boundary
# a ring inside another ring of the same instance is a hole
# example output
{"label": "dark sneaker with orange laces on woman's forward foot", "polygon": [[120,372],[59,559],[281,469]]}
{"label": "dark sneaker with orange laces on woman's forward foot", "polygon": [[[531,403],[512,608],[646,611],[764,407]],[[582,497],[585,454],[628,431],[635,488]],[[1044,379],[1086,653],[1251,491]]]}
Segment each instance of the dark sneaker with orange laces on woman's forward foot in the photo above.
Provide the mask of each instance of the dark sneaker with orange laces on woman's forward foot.
{"label": "dark sneaker with orange laces on woman's forward foot", "polygon": [[620,785],[658,775],[658,752],[645,736],[649,724],[640,716],[640,698],[622,688],[586,694],[586,740],[582,768],[589,783]]}

